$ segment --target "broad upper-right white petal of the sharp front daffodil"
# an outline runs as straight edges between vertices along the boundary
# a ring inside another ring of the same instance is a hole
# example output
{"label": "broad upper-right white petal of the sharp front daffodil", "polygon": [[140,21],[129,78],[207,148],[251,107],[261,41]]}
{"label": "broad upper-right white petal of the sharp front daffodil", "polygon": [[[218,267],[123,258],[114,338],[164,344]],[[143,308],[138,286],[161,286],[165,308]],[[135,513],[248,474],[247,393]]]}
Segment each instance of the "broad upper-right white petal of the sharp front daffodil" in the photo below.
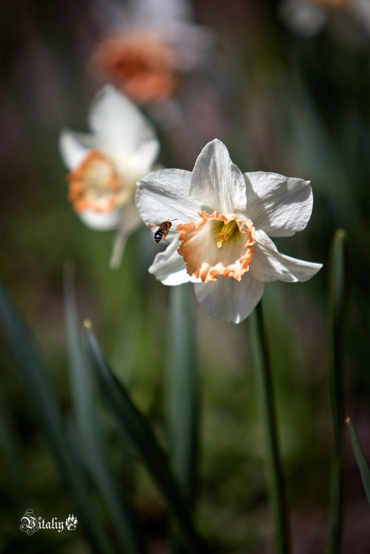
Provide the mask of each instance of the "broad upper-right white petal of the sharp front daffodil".
{"label": "broad upper-right white petal of the sharp front daffodil", "polygon": [[270,237],[290,237],[311,217],[313,194],[309,181],[277,173],[245,173],[247,213],[256,229]]}

